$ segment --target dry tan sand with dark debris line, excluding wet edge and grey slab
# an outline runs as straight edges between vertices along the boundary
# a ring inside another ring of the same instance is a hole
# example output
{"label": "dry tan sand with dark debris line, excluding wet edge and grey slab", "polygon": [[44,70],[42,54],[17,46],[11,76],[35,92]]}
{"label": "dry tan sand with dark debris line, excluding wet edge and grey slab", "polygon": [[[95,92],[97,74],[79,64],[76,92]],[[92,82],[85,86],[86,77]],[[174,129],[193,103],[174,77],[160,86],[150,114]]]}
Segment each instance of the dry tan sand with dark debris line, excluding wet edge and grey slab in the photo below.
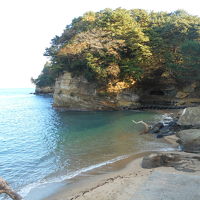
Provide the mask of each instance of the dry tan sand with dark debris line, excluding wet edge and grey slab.
{"label": "dry tan sand with dark debris line, excluding wet edge and grey slab", "polygon": [[130,199],[142,183],[153,172],[141,168],[142,158],[137,158],[123,169],[76,183],[72,188],[48,197],[49,200],[111,200]]}

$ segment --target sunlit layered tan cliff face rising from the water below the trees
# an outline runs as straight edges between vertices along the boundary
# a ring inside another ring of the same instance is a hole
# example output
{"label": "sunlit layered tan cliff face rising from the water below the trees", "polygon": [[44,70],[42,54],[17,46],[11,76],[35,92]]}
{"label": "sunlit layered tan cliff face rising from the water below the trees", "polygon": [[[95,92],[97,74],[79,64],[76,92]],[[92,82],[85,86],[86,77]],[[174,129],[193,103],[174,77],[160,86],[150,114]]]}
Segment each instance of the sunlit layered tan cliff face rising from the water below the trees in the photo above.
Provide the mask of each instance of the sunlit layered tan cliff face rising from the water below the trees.
{"label": "sunlit layered tan cliff face rising from the water below the trees", "polygon": [[[138,107],[138,95],[117,85],[118,90],[105,91],[83,76],[65,72],[56,80],[54,106],[68,110],[121,110]],[[116,88],[115,88],[116,89]]]}

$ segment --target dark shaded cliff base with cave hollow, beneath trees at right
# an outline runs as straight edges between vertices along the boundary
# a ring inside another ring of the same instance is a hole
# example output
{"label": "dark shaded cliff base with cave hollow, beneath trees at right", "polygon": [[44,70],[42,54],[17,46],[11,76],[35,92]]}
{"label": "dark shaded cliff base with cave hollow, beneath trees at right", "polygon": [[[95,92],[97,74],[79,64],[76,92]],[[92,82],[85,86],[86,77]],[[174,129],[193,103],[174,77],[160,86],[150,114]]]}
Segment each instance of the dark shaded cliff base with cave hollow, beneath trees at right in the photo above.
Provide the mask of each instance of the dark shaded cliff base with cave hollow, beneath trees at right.
{"label": "dark shaded cliff base with cave hollow, beneath trees at right", "polygon": [[177,83],[165,73],[142,81],[138,89],[143,106],[184,108],[200,104],[199,83]]}

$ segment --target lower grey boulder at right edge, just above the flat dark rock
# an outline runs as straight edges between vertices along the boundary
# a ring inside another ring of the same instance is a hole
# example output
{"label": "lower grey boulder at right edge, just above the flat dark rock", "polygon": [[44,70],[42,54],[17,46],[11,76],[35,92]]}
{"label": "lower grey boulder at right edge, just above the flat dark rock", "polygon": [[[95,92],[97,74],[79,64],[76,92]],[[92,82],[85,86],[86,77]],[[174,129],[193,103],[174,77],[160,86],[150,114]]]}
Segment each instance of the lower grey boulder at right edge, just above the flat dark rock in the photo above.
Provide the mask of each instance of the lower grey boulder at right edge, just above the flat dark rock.
{"label": "lower grey boulder at right edge, just above the flat dark rock", "polygon": [[177,132],[176,136],[185,152],[200,153],[200,129],[182,130]]}

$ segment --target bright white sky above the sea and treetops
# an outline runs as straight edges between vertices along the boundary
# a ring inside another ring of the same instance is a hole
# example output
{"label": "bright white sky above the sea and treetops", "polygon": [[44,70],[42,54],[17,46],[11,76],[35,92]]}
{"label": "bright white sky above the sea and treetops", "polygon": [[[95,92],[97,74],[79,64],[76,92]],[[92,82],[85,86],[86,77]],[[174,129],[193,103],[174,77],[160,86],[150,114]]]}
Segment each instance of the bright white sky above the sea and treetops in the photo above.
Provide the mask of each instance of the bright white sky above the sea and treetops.
{"label": "bright white sky above the sea and treetops", "polygon": [[168,11],[200,16],[199,0],[0,0],[0,88],[34,87],[45,48],[72,19],[104,8]]}

